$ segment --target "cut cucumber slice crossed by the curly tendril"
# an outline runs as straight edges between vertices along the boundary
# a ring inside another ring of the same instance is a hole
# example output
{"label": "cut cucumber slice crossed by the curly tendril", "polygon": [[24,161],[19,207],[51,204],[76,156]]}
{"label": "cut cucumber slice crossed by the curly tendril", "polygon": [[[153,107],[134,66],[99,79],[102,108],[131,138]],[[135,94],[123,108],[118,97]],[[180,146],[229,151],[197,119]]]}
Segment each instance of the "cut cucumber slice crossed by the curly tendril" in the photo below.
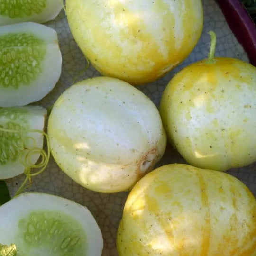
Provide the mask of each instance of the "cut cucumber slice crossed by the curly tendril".
{"label": "cut cucumber slice crossed by the curly tendril", "polygon": [[[0,108],[0,128],[43,131],[46,114],[46,109],[39,106]],[[0,130],[0,179],[22,174],[25,166],[21,164],[20,154],[27,149],[42,147],[43,134],[39,132],[19,133]],[[29,160],[35,164],[39,156],[31,155]]]}

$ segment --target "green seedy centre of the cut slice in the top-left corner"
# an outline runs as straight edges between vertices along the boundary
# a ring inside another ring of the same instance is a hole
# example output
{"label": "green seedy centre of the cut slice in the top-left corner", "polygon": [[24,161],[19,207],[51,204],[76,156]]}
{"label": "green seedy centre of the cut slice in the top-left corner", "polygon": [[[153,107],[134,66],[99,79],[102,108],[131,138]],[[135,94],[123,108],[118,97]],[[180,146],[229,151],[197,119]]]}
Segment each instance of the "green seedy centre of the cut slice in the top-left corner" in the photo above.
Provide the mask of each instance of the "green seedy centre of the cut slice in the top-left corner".
{"label": "green seedy centre of the cut slice in the top-left corner", "polygon": [[0,15],[22,18],[41,13],[46,0],[0,0]]}

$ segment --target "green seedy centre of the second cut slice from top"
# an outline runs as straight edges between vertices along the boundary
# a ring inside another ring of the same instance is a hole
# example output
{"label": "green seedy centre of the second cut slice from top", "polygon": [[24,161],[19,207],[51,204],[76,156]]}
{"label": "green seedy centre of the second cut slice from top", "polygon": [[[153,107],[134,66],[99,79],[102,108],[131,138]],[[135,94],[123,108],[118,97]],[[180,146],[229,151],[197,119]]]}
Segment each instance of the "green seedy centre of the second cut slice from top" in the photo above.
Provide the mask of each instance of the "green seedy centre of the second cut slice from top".
{"label": "green seedy centre of the second cut slice from top", "polygon": [[33,34],[0,36],[0,87],[30,85],[41,73],[46,44]]}

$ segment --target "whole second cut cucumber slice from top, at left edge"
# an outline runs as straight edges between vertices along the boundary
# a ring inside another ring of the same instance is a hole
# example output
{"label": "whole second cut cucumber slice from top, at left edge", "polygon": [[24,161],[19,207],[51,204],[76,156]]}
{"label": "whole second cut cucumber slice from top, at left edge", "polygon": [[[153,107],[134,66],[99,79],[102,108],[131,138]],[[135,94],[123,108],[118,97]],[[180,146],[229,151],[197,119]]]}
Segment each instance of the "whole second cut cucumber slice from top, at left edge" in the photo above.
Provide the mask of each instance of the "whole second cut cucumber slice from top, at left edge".
{"label": "whole second cut cucumber slice from top, at left edge", "polygon": [[0,27],[0,107],[41,100],[55,87],[61,67],[54,29],[33,22]]}

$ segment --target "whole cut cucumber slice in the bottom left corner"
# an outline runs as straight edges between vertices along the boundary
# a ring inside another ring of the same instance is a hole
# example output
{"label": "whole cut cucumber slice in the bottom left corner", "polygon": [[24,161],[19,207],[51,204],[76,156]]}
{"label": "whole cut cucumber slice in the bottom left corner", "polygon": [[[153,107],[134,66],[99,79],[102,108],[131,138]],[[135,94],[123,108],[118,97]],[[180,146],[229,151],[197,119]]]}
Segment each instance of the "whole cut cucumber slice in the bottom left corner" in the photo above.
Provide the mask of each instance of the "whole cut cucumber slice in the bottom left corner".
{"label": "whole cut cucumber slice in the bottom left corner", "polygon": [[103,238],[91,212],[58,196],[23,193],[0,207],[0,244],[18,256],[101,256]]}

